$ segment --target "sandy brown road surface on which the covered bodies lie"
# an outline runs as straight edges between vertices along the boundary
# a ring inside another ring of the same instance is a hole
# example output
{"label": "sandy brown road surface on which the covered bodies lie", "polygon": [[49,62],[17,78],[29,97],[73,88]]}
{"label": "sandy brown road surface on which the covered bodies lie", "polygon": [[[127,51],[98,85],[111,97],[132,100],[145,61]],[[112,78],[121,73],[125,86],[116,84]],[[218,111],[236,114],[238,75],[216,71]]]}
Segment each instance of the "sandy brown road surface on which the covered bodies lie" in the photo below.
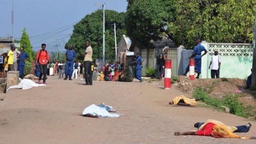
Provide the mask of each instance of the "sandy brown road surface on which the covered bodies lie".
{"label": "sandy brown road surface on which the covered bodies lie", "polygon": [[[196,130],[195,122],[215,119],[244,125],[239,116],[203,107],[171,106],[183,94],[174,88],[146,83],[83,81],[51,76],[44,87],[9,90],[0,101],[0,143],[255,143],[256,140],[216,139],[210,136],[174,136]],[[120,118],[81,116],[91,104],[114,106]],[[256,122],[242,136],[256,136]]]}

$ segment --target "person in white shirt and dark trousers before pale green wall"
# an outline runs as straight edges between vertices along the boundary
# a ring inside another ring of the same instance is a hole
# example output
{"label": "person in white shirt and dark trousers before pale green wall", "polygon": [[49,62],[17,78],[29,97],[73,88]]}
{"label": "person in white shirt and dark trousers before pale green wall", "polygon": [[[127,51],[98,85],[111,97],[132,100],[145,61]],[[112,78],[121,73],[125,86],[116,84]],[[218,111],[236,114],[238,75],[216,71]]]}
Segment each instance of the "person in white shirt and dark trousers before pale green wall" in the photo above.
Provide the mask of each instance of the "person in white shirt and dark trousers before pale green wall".
{"label": "person in white shirt and dark trousers before pale green wall", "polygon": [[218,54],[218,49],[214,50],[214,55],[212,55],[212,59],[209,65],[209,70],[211,70],[211,77],[212,79],[220,78],[220,55]]}

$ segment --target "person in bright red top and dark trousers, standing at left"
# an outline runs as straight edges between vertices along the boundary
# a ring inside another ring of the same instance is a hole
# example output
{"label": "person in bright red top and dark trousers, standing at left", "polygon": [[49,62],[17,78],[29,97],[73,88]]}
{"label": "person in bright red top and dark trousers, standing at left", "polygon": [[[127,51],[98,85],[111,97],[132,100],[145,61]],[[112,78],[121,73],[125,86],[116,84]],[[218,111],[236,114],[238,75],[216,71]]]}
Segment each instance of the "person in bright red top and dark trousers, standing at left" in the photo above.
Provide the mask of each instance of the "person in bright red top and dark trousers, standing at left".
{"label": "person in bright red top and dark trousers, standing at left", "polygon": [[43,84],[46,85],[46,72],[47,72],[47,65],[50,63],[50,57],[48,51],[45,50],[46,44],[42,44],[42,50],[39,50],[36,54],[36,65],[40,67],[40,76],[37,83],[41,83],[42,76],[43,77]]}

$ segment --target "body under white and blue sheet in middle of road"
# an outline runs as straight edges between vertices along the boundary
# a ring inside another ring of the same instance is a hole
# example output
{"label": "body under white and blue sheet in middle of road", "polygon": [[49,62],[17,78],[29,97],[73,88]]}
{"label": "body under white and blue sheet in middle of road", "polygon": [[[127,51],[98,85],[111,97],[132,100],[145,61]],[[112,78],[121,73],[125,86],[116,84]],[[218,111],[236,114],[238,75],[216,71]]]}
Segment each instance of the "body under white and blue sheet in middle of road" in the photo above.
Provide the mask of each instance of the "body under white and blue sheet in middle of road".
{"label": "body under white and blue sheet in middle of road", "polygon": [[119,117],[120,114],[113,114],[109,112],[116,112],[116,108],[112,106],[107,106],[104,103],[96,106],[94,104],[86,107],[82,113],[83,116],[90,118],[105,118],[105,117]]}

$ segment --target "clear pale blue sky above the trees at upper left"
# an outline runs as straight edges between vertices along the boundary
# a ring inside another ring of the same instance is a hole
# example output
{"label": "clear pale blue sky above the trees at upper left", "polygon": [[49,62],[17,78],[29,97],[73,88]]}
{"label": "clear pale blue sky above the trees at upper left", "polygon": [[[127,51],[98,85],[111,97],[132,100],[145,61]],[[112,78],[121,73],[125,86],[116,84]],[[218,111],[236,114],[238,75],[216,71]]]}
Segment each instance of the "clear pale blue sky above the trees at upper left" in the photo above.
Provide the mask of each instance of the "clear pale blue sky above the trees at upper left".
{"label": "clear pale blue sky above the trees at upper left", "polygon": [[25,28],[34,51],[40,50],[42,43],[50,52],[64,51],[73,25],[102,9],[104,2],[105,9],[126,11],[126,0],[0,0],[0,37],[13,35],[19,40]]}

